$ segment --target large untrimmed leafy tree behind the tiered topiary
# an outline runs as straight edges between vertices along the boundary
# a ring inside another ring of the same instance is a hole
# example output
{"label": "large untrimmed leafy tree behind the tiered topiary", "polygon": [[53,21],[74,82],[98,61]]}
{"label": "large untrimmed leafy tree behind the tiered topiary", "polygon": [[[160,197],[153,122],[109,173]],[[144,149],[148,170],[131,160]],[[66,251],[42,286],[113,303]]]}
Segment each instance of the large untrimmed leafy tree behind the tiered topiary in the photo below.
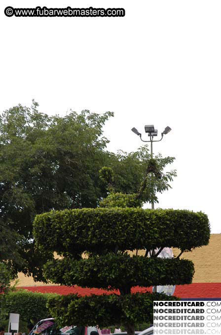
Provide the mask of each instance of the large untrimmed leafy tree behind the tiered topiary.
{"label": "large untrimmed leafy tree behind the tiered topiary", "polygon": [[[137,193],[142,181],[141,200],[157,202],[157,192],[170,187],[176,171],[164,173],[174,158],[158,155],[161,178],[154,176],[150,183],[147,146],[131,153],[106,151],[109,141],[102,127],[111,112],[71,111],[60,117],[40,113],[37,108],[33,101],[31,108],[18,105],[0,115],[0,261],[7,264],[13,277],[22,271],[44,281],[41,269],[53,254],[46,248],[35,250],[36,214],[95,208],[110,193],[111,185],[116,192]],[[106,179],[99,176],[104,166]]]}

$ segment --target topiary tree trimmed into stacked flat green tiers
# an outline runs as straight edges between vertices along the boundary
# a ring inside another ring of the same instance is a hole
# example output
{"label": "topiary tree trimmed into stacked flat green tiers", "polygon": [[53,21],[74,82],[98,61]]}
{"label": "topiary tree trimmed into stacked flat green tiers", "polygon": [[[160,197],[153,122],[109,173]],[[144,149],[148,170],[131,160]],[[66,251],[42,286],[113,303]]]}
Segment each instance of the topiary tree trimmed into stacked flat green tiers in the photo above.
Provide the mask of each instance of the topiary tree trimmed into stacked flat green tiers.
{"label": "topiary tree trimmed into stacked flat green tiers", "polygon": [[[61,256],[44,266],[45,277],[53,283],[119,290],[119,294],[51,298],[49,310],[58,324],[120,324],[133,335],[135,324],[152,321],[153,300],[178,298],[131,293],[132,287],[190,284],[194,274],[191,261],[180,255],[157,258],[158,253],[151,250],[178,247],[181,252],[190,251],[208,244],[210,228],[202,212],[142,209],[137,194],[111,193],[99,208],[37,215],[34,235],[38,248]],[[128,251],[136,249],[147,251],[131,257]]]}

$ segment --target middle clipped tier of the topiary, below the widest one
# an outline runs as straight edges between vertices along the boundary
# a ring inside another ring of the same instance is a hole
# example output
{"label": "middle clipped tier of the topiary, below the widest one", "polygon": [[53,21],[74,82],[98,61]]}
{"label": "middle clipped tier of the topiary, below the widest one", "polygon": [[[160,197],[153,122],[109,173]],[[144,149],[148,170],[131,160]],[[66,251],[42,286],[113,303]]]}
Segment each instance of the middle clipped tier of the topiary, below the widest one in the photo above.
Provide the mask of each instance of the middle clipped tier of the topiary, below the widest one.
{"label": "middle clipped tier of the topiary, below the widest one", "polygon": [[176,258],[146,258],[108,253],[87,259],[56,259],[45,266],[53,283],[129,291],[131,287],[191,284],[192,261]]}

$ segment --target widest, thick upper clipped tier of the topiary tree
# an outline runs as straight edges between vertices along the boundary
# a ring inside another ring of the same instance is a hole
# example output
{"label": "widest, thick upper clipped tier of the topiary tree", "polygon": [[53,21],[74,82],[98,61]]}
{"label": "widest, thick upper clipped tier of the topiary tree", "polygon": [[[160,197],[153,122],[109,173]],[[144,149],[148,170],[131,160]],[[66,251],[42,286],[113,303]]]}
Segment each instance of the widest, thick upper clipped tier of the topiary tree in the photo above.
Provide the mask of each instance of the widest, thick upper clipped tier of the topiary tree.
{"label": "widest, thick upper clipped tier of the topiary tree", "polygon": [[207,245],[208,217],[173,209],[83,208],[37,215],[34,233],[41,249],[103,253],[105,250],[177,247],[182,251]]}

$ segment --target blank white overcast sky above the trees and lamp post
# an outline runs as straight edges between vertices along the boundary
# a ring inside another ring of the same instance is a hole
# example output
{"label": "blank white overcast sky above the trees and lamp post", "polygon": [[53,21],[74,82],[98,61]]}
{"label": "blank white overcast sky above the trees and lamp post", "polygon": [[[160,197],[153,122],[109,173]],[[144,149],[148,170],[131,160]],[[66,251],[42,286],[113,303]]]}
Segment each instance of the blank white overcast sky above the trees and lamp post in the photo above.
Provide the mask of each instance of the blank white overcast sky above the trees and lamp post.
{"label": "blank white overcast sky above the trees and lamp post", "polygon": [[[124,18],[6,17],[12,7],[123,7]],[[159,207],[208,214],[220,227],[221,1],[1,0],[0,111],[32,98],[48,114],[110,110],[108,149],[136,150],[145,124],[178,177]]]}

